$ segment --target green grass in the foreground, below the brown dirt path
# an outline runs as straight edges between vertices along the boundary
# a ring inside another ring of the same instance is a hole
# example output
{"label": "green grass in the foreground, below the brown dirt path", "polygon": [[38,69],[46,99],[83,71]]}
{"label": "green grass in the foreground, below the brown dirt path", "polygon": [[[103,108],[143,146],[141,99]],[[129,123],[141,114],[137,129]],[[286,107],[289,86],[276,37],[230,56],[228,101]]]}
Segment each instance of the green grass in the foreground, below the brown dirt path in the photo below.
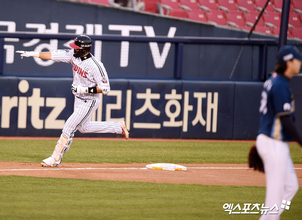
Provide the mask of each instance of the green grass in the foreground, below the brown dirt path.
{"label": "green grass in the foreground, below the brown dirt path", "polygon": [[[0,219],[258,219],[223,204],[263,203],[265,187],[0,177]],[[283,219],[299,219],[300,188]],[[282,218],[281,218],[282,219]]]}

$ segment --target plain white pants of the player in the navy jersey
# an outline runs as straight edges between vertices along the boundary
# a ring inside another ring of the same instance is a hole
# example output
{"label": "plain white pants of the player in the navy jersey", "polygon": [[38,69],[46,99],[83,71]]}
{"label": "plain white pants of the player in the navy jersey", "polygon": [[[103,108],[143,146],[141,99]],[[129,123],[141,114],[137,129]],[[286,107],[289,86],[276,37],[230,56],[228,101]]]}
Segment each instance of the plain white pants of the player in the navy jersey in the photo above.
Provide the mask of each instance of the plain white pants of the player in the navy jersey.
{"label": "plain white pants of the player in the navy jersey", "polygon": [[[270,138],[264,134],[259,134],[256,140],[256,148],[262,159],[265,171],[265,207],[271,209],[277,204],[279,209],[278,214],[263,214],[260,219],[278,220],[284,211],[284,209],[281,209],[282,200],[291,201],[299,189],[297,174],[294,170],[289,151],[289,144]],[[277,211],[273,209],[271,212]]]}

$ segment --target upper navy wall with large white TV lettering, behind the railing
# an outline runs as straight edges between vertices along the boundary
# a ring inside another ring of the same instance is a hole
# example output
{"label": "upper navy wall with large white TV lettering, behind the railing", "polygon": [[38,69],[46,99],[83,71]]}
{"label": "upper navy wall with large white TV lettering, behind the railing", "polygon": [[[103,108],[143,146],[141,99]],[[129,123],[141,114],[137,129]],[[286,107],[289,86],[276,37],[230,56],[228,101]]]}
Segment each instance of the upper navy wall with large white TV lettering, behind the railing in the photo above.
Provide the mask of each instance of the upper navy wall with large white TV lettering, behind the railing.
{"label": "upper navy wall with large white TV lettering, behind the railing", "polygon": [[[14,13],[11,13],[9,8],[14,8]],[[24,11],[27,16],[15,16],[24,14]],[[104,37],[107,34],[149,38],[165,36],[170,39],[177,37],[244,39],[247,31],[151,13],[56,0],[27,0],[23,5],[20,4],[20,0],[3,1],[0,14],[2,15],[0,31],[5,33],[70,34],[68,40],[19,38],[14,35],[2,37],[0,74],[3,76],[69,77],[70,67],[66,64],[54,65],[51,61],[38,58],[24,61],[14,51],[70,49],[68,43],[79,34],[94,36],[92,54],[104,63],[110,78],[174,79],[175,68],[179,68],[178,72],[182,73],[182,79],[185,80],[229,80],[230,75],[232,80],[257,80],[259,75],[261,48],[258,45],[185,43],[178,47],[180,44],[165,41],[129,42],[97,39],[98,36]],[[265,34],[252,34],[251,38],[277,39]],[[275,66],[277,44],[266,45],[266,50],[265,72],[270,73]],[[233,71],[240,53],[241,56]],[[175,58],[179,54],[181,56]],[[181,65],[175,63],[176,59],[181,61]]]}

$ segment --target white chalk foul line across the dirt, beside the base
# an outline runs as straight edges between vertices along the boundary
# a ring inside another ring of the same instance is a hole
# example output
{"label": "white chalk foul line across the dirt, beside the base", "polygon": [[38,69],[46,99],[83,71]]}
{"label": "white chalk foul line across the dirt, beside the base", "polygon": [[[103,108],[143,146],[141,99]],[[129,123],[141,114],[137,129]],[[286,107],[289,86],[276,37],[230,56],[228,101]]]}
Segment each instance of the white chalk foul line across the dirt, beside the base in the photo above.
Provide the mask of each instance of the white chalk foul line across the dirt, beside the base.
{"label": "white chalk foul line across the dirt, beside the base", "polygon": [[[72,169],[148,169],[144,168],[44,168],[44,169],[0,169],[0,171],[21,171],[21,170],[72,170]],[[187,167],[187,169],[254,169],[248,167]],[[302,169],[302,168],[294,168],[294,169]]]}

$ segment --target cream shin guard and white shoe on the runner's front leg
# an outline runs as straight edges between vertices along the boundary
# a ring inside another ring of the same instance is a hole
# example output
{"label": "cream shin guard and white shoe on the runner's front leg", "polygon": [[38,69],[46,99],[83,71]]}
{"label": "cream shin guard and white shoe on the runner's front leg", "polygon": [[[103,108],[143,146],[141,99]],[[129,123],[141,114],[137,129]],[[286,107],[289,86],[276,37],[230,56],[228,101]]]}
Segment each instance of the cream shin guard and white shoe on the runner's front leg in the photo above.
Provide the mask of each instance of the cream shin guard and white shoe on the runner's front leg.
{"label": "cream shin guard and white shoe on the runner's front leg", "polygon": [[58,140],[56,147],[53,151],[53,154],[51,157],[44,159],[41,163],[42,166],[59,166],[59,164],[62,161],[63,153],[66,153],[69,149],[69,146],[67,146],[67,143],[70,141],[70,139],[67,139],[63,135],[60,136],[60,139]]}

